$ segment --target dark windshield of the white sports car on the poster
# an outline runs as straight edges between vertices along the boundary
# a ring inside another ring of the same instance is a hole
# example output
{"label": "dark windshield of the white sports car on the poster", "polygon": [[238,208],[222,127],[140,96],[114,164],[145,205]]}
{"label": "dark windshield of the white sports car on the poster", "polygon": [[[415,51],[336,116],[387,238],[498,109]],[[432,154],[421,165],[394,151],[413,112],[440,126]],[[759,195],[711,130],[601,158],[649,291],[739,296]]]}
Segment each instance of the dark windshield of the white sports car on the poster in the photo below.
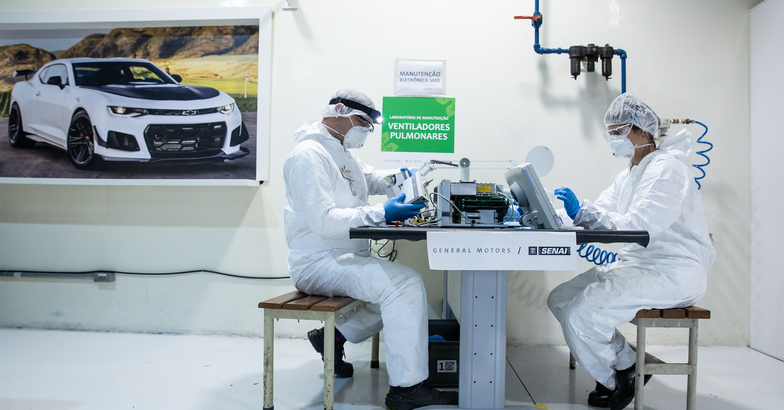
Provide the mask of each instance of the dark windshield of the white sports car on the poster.
{"label": "dark windshield of the white sports car on the poster", "polygon": [[155,64],[143,61],[73,63],[76,85],[177,84]]}

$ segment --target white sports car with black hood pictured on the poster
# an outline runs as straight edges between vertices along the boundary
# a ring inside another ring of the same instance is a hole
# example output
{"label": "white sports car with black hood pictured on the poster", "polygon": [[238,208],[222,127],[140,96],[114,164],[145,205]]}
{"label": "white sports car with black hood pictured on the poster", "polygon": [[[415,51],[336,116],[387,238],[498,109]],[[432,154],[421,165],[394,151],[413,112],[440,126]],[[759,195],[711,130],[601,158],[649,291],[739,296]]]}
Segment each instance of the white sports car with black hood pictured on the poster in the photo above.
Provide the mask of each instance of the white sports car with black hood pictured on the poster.
{"label": "white sports car with black hood pictured on the poster", "polygon": [[14,86],[8,139],[68,152],[77,168],[104,161],[233,160],[248,131],[233,98],[182,85],[147,60],[54,60]]}

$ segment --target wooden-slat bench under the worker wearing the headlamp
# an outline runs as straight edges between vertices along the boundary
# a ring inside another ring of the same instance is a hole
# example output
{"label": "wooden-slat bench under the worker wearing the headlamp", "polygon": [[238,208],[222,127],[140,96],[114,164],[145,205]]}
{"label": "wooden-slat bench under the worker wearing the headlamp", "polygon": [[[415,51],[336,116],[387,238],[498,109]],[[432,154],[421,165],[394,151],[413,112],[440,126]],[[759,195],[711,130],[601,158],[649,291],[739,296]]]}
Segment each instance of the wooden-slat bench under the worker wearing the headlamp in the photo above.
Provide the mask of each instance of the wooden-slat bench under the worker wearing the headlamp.
{"label": "wooden-slat bench under the worker wearing the headlamp", "polygon": [[[272,386],[275,344],[273,319],[324,322],[324,409],[335,408],[335,319],[365,302],[348,297],[328,297],[290,292],[259,303],[264,309],[264,410],[273,410]],[[378,334],[373,336],[371,368],[378,368]]]}

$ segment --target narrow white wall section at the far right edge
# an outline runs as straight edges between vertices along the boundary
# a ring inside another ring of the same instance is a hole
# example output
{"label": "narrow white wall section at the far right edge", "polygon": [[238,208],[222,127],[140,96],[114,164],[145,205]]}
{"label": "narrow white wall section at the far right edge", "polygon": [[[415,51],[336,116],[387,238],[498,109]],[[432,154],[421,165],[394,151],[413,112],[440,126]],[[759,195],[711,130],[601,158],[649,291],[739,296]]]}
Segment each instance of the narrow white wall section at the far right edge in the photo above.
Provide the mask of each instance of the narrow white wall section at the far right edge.
{"label": "narrow white wall section at the far right edge", "polygon": [[[784,163],[771,147],[781,140],[784,56],[770,51],[784,38],[784,0],[768,0],[751,12],[751,324],[750,346],[784,360],[784,275],[778,253],[784,222],[773,217],[784,201]],[[773,189],[771,189],[773,188]]]}

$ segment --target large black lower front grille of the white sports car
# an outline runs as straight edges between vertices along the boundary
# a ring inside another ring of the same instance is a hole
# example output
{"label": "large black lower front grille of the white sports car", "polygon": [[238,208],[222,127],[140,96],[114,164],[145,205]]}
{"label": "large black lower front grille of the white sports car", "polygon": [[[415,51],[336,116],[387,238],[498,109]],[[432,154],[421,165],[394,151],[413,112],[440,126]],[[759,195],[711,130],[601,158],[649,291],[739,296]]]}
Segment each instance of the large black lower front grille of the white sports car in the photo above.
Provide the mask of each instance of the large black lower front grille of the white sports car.
{"label": "large black lower front grille of the white sports car", "polygon": [[225,122],[150,124],[144,141],[152,158],[198,158],[220,153],[226,130]]}

